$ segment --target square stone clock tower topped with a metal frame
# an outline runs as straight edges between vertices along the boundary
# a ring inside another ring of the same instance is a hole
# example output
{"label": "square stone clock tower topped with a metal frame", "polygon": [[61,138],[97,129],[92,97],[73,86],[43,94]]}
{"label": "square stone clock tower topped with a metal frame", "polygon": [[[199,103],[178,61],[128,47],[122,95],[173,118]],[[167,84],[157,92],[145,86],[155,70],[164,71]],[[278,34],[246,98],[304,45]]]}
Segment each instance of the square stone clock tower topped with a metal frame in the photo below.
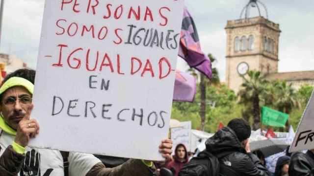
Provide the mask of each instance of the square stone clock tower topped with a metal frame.
{"label": "square stone clock tower topped with a metal frame", "polygon": [[[260,6],[264,7],[265,17]],[[259,16],[249,18],[251,9]],[[243,17],[242,17],[243,16]],[[243,8],[240,19],[227,22],[226,83],[235,93],[243,82],[240,75],[248,70],[264,74],[278,72],[279,24],[268,20],[266,6],[259,0],[250,0]]]}

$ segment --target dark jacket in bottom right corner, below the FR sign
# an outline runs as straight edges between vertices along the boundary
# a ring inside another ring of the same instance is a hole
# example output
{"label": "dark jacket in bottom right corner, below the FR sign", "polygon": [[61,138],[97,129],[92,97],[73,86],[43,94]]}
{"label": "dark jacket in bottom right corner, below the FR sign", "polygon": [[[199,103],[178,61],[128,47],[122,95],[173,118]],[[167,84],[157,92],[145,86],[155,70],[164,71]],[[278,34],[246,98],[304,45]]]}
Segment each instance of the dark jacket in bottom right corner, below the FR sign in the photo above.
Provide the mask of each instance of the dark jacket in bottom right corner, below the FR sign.
{"label": "dark jacket in bottom right corner, below the FR sign", "polygon": [[314,154],[308,151],[306,154],[292,154],[289,164],[289,176],[314,176]]}

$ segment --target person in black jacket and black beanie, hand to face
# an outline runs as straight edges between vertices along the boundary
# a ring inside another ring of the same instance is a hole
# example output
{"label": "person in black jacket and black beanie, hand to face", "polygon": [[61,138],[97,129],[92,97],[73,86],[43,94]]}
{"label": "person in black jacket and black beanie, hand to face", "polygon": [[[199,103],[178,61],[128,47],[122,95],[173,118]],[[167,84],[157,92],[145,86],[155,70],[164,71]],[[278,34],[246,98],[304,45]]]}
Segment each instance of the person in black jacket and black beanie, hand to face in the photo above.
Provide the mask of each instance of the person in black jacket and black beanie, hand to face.
{"label": "person in black jacket and black beanie, hand to face", "polygon": [[236,118],[206,141],[206,150],[219,160],[220,175],[271,176],[259,158],[251,153],[250,135],[248,122]]}

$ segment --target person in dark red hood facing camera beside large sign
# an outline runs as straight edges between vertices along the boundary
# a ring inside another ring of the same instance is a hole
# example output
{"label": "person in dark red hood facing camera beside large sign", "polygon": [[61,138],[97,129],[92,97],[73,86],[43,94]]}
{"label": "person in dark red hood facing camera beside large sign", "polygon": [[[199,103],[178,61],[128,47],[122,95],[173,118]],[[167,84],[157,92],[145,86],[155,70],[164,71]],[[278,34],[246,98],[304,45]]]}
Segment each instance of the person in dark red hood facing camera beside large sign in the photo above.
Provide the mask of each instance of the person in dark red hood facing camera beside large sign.
{"label": "person in dark red hood facing camera beside large sign", "polygon": [[186,147],[183,144],[178,144],[173,155],[173,161],[167,164],[167,168],[172,171],[174,176],[179,175],[179,171],[183,168],[183,165],[188,162],[188,154]]}

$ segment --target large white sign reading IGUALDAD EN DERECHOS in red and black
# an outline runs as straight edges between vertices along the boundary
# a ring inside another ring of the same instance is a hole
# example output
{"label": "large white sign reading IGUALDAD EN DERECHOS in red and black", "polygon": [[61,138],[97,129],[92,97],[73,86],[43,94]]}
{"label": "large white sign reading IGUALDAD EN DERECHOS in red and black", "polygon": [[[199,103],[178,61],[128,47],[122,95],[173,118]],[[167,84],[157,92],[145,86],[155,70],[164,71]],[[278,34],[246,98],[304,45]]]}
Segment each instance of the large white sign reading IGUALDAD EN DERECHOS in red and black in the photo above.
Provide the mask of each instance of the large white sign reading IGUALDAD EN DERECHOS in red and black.
{"label": "large white sign reading IGUALDAD EN DERECHOS in red and black", "polygon": [[31,146],[161,160],[183,0],[46,0]]}

